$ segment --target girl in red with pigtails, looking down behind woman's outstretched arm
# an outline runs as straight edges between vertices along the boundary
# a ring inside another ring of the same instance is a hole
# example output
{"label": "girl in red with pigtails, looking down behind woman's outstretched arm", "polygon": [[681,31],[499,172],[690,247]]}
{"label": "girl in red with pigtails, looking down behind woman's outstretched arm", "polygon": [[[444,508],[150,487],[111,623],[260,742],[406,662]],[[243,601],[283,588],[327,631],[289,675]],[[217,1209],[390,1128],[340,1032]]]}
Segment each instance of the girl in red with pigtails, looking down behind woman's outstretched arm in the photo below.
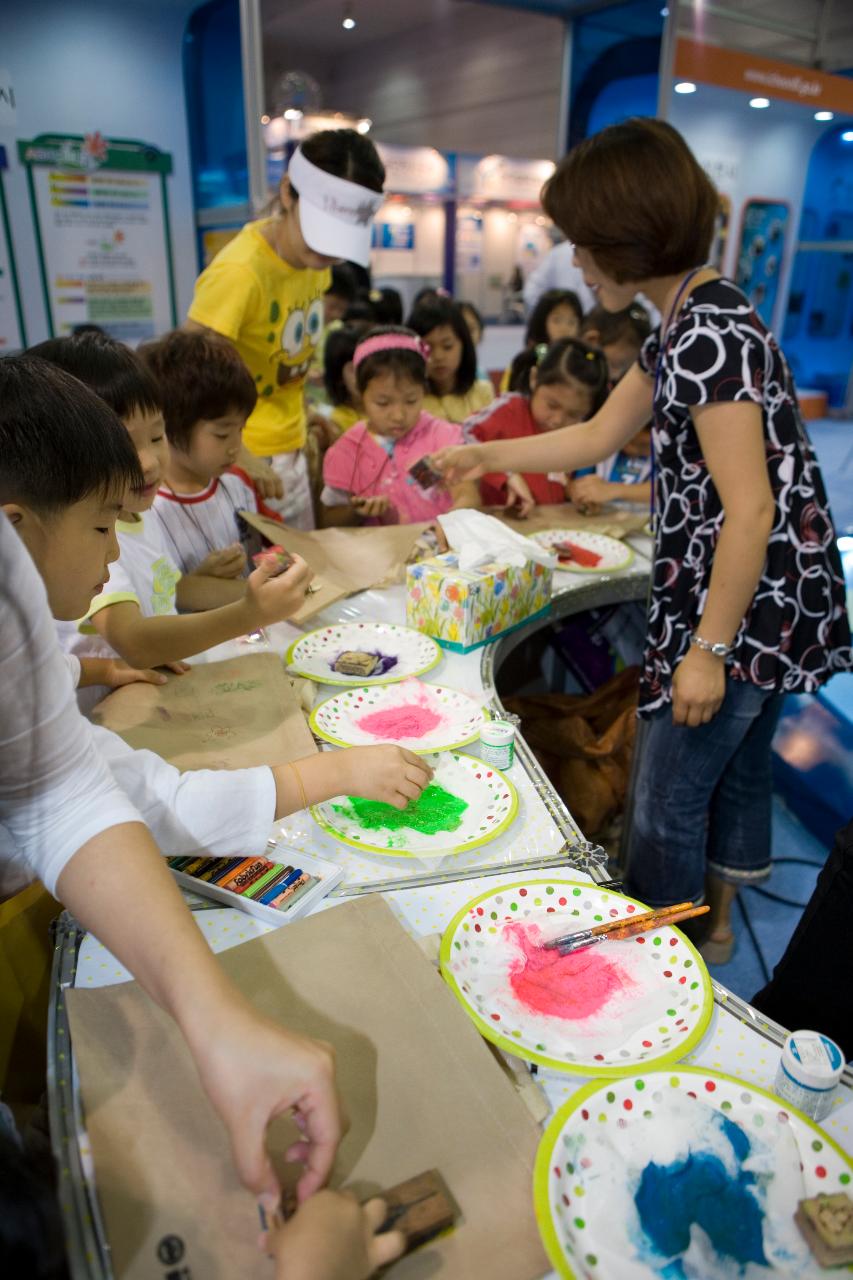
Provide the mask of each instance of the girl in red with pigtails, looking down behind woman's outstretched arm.
{"label": "girl in red with pigtails, looking down behind woman's outstretched arm", "polygon": [[[516,388],[467,420],[467,439],[515,440],[584,422],[607,398],[607,362],[578,338],[530,347],[516,357]],[[535,506],[565,502],[567,484],[561,471],[494,472],[482,476],[480,497],[484,507],[511,506],[525,517]]]}

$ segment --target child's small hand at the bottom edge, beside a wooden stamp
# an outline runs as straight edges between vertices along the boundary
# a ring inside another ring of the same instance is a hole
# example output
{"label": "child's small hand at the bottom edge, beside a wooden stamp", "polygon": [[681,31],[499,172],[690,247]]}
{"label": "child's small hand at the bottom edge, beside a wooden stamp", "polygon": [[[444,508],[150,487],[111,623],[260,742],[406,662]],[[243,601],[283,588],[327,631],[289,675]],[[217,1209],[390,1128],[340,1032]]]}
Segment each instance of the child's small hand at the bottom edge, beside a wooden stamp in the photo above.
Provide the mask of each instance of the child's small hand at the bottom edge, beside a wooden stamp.
{"label": "child's small hand at the bottom edge, beside a wooden stamp", "polygon": [[277,1280],[368,1280],[406,1248],[402,1231],[383,1231],[382,1199],[359,1202],[348,1192],[318,1192],[282,1226],[269,1231]]}

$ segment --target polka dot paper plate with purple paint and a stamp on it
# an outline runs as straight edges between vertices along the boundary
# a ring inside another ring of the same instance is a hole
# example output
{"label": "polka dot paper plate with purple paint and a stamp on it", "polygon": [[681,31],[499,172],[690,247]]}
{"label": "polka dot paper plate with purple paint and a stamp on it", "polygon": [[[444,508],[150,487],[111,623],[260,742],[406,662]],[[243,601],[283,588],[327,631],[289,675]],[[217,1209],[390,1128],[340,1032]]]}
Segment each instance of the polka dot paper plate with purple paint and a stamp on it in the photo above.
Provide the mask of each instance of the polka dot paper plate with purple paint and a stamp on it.
{"label": "polka dot paper plate with purple paint and a stamp on it", "polygon": [[[342,653],[373,653],[379,666],[373,676],[343,676],[334,669]],[[437,667],[442,650],[412,627],[394,622],[341,622],[309,631],[287,650],[284,662],[296,676],[321,685],[392,685],[407,676],[423,676]]]}

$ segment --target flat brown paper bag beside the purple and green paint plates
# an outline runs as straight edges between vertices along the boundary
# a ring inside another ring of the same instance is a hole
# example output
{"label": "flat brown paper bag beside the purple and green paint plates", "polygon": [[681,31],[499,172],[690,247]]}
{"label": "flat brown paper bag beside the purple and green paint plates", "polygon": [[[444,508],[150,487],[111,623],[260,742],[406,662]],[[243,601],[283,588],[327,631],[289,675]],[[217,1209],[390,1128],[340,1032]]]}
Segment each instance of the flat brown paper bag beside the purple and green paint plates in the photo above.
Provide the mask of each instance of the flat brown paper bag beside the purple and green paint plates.
{"label": "flat brown paper bag beside the purple and green paint plates", "polygon": [[124,685],[97,704],[92,719],[179,769],[287,764],[316,751],[298,694],[273,653],[196,663],[165,685]]}

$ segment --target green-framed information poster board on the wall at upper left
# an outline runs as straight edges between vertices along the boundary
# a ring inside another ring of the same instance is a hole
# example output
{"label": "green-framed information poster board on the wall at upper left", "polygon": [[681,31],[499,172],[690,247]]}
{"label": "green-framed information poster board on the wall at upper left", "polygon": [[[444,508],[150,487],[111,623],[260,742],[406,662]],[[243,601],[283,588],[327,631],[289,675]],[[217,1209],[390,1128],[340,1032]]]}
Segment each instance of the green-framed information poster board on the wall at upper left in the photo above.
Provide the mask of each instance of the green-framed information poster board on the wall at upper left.
{"label": "green-framed information poster board on the wall at upper left", "polygon": [[18,142],[51,335],[97,324],[136,346],[177,324],[167,174],[172,156],[100,133]]}

